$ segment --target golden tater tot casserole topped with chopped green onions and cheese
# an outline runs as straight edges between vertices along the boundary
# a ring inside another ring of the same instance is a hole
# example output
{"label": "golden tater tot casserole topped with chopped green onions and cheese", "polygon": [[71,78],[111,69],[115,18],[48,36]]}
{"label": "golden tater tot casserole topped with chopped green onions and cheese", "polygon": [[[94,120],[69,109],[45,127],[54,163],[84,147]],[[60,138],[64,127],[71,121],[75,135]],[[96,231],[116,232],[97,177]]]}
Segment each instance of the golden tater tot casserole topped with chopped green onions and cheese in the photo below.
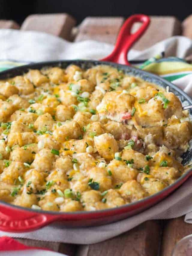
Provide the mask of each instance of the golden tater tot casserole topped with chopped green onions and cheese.
{"label": "golden tater tot casserole topped with chopped green onions and cheese", "polygon": [[0,81],[0,200],[94,211],[155,194],[185,172],[188,111],[169,88],[108,65]]}

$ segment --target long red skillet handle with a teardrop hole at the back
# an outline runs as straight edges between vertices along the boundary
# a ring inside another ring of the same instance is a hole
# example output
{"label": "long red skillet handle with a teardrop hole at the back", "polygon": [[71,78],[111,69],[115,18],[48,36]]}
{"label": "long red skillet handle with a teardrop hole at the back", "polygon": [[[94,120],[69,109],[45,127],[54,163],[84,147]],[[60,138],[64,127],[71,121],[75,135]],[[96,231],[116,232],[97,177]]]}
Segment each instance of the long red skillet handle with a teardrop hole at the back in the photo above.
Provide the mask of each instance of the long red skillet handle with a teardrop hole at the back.
{"label": "long red skillet handle with a teardrop hole at the back", "polygon": [[[131,34],[131,28],[135,22],[143,23],[137,32]],[[113,52],[101,61],[116,62],[119,64],[130,65],[127,59],[128,51],[131,46],[143,35],[150,23],[150,18],[144,14],[135,14],[129,17],[123,24],[117,37]]]}

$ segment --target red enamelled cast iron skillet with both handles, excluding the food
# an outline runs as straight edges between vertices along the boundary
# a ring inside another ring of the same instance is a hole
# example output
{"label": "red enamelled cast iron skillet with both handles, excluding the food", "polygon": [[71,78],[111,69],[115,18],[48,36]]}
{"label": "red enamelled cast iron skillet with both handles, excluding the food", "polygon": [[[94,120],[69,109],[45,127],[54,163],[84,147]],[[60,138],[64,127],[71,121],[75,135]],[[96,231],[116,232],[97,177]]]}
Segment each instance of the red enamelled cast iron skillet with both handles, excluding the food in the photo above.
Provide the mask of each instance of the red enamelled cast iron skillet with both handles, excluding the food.
{"label": "red enamelled cast iron skillet with both handles, excluding the food", "polygon": [[[142,22],[143,25],[134,35],[131,35],[130,30],[135,22]],[[66,60],[55,62],[41,62],[3,71],[0,73],[0,79],[22,75],[23,73],[28,72],[29,68],[41,69],[43,67],[55,66],[66,68],[70,64],[75,64],[83,69],[87,69],[95,65],[106,64],[111,65],[115,68],[119,68],[125,71],[126,74],[140,77],[143,80],[158,84],[164,88],[166,88],[166,86],[169,86],[170,92],[175,93],[180,98],[182,103],[186,105],[192,104],[192,100],[190,99],[190,97],[170,82],[156,75],[129,66],[129,62],[127,60],[128,50],[135,43],[135,41],[140,38],[140,36],[144,33],[149,23],[149,17],[145,15],[139,14],[131,16],[120,30],[115,49],[110,54],[110,56],[101,61]],[[114,62],[118,62],[119,64],[116,64]],[[191,152],[185,153],[184,164],[189,163],[191,159]],[[143,200],[112,209],[90,212],[53,212],[33,210],[21,206],[13,206],[9,203],[0,201],[0,230],[4,230],[7,232],[27,232],[43,227],[53,221],[61,221],[63,225],[68,227],[102,225],[118,221],[142,212],[167,197],[192,174],[191,170],[192,169],[189,169],[175,183],[167,188],[164,188],[157,194],[146,197]]]}

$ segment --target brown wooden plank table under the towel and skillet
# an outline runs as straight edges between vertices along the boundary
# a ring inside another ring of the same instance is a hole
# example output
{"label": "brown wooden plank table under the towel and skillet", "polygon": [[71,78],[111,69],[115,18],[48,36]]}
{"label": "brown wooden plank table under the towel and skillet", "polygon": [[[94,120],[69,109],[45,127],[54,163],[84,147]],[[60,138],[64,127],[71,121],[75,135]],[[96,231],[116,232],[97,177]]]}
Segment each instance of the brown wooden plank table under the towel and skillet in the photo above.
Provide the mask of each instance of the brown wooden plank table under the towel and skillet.
{"label": "brown wooden plank table under the towel and skillet", "polygon": [[[26,18],[20,27],[14,21],[0,20],[0,28],[43,31],[69,41],[94,39],[114,44],[123,17],[87,17],[75,27],[76,20],[68,14],[41,14]],[[136,24],[135,31],[140,25]],[[192,38],[192,15],[183,23],[175,17],[151,17],[146,34],[134,49],[146,49],[173,35]],[[188,56],[192,60],[192,56]],[[115,238],[93,245],[72,245],[56,242],[17,239],[26,245],[50,248],[70,256],[170,256],[176,242],[192,233],[192,225],[184,217],[160,221],[151,220]]]}

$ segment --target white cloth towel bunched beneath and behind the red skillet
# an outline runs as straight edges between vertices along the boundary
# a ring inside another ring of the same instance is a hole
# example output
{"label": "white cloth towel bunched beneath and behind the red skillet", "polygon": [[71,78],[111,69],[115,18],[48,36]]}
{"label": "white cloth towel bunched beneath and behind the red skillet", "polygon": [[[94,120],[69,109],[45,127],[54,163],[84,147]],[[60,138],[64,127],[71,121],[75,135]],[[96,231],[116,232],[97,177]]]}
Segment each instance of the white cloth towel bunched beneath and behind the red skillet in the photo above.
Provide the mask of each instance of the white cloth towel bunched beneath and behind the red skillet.
{"label": "white cloth towel bunched beneath and behind the red skillet", "polygon": [[[61,59],[101,59],[113,49],[110,44],[95,41],[69,43],[46,33],[0,30],[0,60],[19,62],[38,62]],[[192,41],[182,36],[166,39],[149,49],[138,52],[131,50],[129,60],[149,59],[164,52],[165,56],[184,58],[192,54]],[[174,83],[192,95],[192,83],[189,74]],[[185,221],[192,223],[192,177],[180,188],[157,205],[133,217],[99,227],[66,228],[62,224],[50,224],[37,231],[28,233],[7,233],[7,235],[36,240],[91,244],[117,236],[138,224],[150,219],[176,218],[185,215]]]}

